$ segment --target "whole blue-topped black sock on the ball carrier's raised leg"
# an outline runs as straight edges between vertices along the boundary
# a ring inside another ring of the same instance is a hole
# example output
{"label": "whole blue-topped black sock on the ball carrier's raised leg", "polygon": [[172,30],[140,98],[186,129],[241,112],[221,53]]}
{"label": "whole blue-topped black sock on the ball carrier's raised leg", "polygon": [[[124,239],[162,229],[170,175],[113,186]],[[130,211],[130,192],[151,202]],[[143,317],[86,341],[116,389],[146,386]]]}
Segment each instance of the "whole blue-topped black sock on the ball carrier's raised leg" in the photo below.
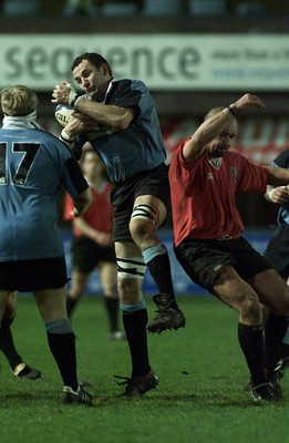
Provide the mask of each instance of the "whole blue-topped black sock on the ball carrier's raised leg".
{"label": "whole blue-topped black sock on the ball carrier's raised leg", "polygon": [[178,310],[179,308],[174,296],[171,264],[166,247],[161,243],[151,246],[143,251],[143,257],[159,293],[166,293],[167,301],[171,301],[171,308]]}

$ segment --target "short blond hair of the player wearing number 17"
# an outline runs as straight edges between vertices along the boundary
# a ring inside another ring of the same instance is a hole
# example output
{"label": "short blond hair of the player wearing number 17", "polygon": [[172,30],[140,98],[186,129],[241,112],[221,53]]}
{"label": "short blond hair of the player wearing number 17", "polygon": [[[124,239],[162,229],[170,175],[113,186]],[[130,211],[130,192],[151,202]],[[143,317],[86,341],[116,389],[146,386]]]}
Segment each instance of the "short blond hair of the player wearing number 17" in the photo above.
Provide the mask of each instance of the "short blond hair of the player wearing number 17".
{"label": "short blond hair of the player wearing number 17", "polygon": [[35,111],[38,96],[27,86],[8,86],[0,91],[1,107],[6,115],[28,115]]}

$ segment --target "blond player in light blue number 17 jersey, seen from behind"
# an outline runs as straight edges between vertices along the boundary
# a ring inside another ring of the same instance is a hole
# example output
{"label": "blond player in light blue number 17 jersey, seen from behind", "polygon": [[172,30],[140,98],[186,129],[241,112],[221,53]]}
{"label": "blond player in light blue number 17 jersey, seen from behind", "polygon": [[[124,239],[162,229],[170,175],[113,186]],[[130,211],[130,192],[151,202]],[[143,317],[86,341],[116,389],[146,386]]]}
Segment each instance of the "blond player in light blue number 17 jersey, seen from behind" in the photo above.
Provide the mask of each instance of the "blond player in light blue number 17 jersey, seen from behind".
{"label": "blond player in light blue number 17 jersey, seen from behind", "polygon": [[64,383],[64,403],[92,404],[76,378],[75,338],[66,316],[66,266],[58,228],[63,185],[83,213],[91,193],[66,146],[37,124],[38,97],[25,86],[0,92],[0,320],[11,291],[31,291]]}

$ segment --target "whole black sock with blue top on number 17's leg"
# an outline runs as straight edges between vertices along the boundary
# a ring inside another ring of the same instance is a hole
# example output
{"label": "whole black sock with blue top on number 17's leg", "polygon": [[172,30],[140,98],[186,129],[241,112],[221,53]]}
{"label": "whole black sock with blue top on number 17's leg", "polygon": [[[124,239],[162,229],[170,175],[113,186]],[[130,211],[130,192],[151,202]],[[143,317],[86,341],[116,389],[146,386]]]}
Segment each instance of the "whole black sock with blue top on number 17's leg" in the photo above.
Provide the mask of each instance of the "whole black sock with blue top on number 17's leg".
{"label": "whole black sock with blue top on number 17's leg", "polygon": [[76,391],[79,382],[76,377],[75,336],[70,320],[51,321],[45,327],[49,347],[59,367],[63,384]]}

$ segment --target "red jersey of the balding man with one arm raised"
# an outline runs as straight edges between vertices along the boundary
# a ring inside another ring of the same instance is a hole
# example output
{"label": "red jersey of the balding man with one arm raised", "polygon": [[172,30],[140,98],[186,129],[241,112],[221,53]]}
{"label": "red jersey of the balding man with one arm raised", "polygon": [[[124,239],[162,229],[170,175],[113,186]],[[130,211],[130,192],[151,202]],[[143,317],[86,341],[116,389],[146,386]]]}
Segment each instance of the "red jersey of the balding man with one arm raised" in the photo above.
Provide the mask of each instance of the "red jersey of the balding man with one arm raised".
{"label": "red jersey of the balding man with one arm raised", "polygon": [[193,161],[177,148],[169,166],[175,246],[186,238],[238,238],[244,230],[236,207],[237,194],[265,194],[268,167],[227,152],[214,167],[206,156]]}

